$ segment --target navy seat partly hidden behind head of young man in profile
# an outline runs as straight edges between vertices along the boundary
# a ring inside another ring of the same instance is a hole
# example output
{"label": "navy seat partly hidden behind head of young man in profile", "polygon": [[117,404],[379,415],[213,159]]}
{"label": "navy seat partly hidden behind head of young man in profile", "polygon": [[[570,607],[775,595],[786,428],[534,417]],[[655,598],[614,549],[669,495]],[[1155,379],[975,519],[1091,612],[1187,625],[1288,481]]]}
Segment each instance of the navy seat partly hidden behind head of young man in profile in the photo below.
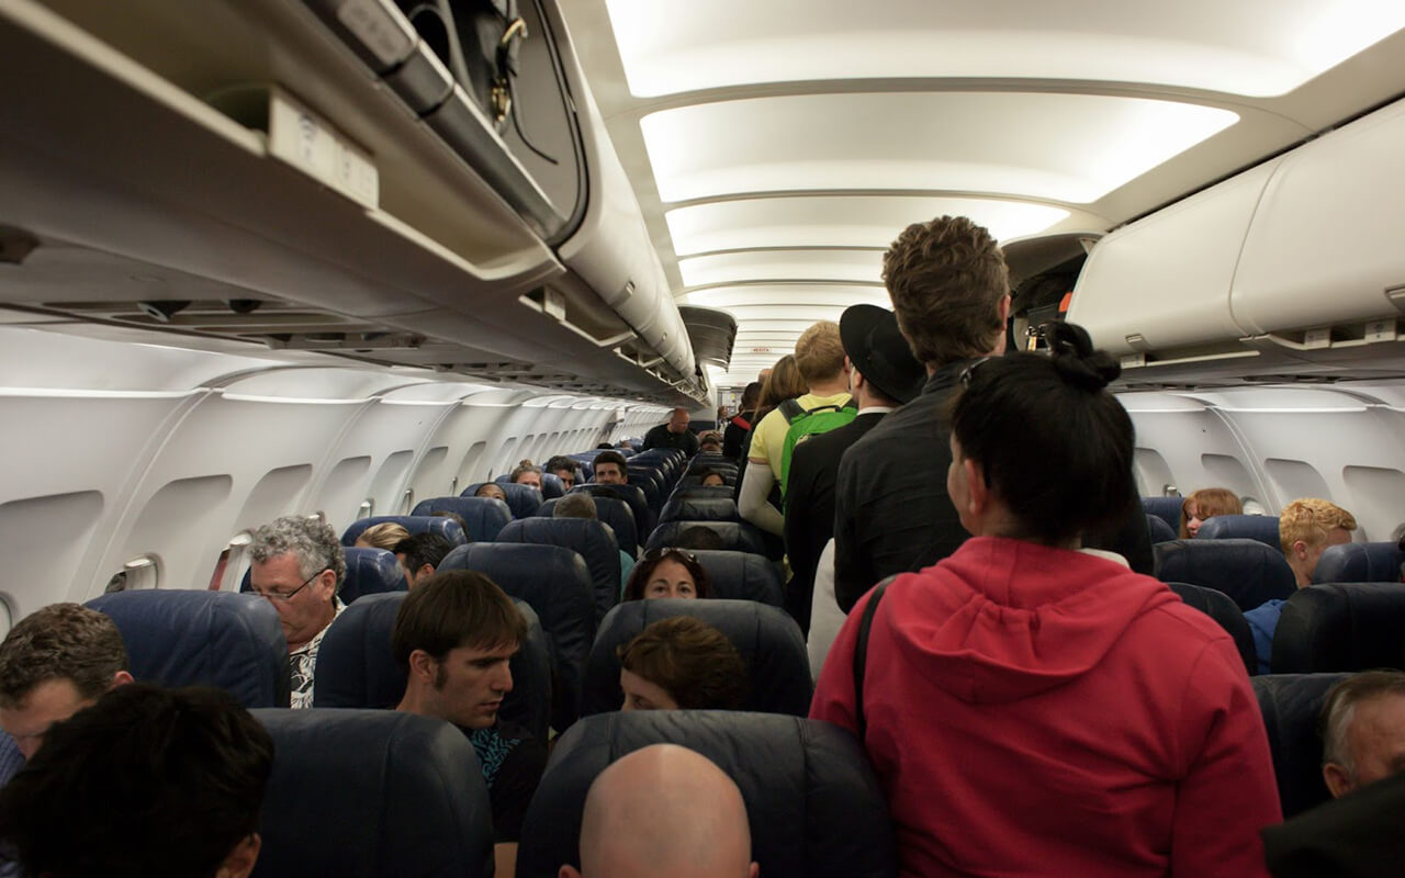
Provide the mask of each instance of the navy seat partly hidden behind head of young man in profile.
{"label": "navy seat partly hidden behind head of young man in profile", "polygon": [[[313,707],[389,709],[405,695],[406,671],[391,652],[395,615],[406,594],[372,594],[347,607],[322,638],[318,649],[318,687]],[[547,740],[551,725],[551,653],[537,612],[514,600],[527,620],[527,638],[509,663],[513,691],[503,698],[499,716]]]}

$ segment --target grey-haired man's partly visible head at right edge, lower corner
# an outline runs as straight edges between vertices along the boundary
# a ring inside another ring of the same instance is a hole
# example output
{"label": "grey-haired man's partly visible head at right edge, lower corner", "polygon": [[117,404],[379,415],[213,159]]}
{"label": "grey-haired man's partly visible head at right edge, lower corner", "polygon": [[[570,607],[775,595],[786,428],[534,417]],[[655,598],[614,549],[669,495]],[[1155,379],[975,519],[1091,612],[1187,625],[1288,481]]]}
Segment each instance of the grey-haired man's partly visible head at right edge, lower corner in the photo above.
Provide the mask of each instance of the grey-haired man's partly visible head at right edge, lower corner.
{"label": "grey-haired man's partly visible head at right edge, lower corner", "polygon": [[1340,798],[1405,771],[1405,673],[1367,670],[1322,702],[1322,780]]}

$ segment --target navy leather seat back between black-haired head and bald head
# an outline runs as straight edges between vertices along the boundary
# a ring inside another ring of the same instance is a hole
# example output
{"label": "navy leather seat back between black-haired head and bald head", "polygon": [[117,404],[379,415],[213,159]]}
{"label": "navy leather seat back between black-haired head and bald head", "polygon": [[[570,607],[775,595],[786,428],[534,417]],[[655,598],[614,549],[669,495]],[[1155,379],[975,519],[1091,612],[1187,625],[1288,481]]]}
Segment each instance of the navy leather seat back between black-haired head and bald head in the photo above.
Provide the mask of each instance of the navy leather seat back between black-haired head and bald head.
{"label": "navy leather seat back between black-haired head and bald head", "polygon": [[274,745],[256,878],[493,874],[493,811],[468,736],[392,711],[254,711]]}

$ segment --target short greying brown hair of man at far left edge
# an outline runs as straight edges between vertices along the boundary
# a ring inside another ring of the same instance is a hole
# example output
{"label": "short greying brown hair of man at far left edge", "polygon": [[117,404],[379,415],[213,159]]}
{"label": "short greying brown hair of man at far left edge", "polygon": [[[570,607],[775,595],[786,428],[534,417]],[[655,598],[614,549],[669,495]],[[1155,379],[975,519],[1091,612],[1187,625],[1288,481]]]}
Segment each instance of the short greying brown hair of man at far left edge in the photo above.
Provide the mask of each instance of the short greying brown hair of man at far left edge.
{"label": "short greying brown hair of man at far left edge", "polygon": [[126,664],[117,622],[79,604],[49,604],[0,643],[0,705],[18,707],[46,680],[72,680],[79,695],[97,698]]}

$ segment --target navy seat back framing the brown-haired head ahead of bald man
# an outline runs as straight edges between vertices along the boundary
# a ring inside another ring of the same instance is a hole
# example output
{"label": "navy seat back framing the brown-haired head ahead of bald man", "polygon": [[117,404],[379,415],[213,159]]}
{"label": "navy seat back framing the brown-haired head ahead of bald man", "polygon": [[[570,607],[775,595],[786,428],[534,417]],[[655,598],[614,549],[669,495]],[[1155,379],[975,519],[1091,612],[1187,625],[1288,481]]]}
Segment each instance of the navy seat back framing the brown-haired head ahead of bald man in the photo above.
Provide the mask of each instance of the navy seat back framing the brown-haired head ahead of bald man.
{"label": "navy seat back framing the brown-haired head ahead of bald man", "polygon": [[809,655],[799,625],[784,610],[756,601],[655,598],[625,601],[610,611],[590,648],[583,716],[620,709],[618,649],[659,620],[691,615],[712,625],[742,653],[750,671],[747,711],[809,712]]}

